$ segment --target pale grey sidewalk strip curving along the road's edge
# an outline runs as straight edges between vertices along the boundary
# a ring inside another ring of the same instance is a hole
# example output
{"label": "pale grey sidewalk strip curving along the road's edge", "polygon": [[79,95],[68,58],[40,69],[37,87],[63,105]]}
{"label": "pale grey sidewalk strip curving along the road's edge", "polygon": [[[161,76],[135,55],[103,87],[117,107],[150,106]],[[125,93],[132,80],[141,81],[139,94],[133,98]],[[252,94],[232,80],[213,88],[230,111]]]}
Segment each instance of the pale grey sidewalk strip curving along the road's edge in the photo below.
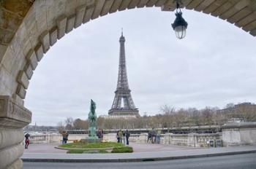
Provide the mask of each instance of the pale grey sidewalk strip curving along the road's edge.
{"label": "pale grey sidewalk strip curving along the road's edge", "polygon": [[[145,144],[145,146],[146,145],[148,144]],[[24,153],[21,159],[25,162],[139,162],[154,160],[176,160],[196,157],[213,157],[246,153],[256,153],[256,145],[211,149],[182,149],[173,151],[166,150],[159,152],[134,152],[121,154]]]}

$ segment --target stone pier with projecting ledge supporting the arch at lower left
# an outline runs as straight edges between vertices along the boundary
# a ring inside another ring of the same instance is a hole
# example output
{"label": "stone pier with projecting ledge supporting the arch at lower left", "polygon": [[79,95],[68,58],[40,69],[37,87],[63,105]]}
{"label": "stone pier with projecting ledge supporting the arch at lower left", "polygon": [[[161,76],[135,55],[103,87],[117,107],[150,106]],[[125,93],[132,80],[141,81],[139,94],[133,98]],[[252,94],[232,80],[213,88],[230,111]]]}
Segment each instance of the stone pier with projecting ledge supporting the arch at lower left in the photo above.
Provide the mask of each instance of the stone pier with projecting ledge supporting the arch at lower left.
{"label": "stone pier with projecting ledge supporting the arch at lower left", "polygon": [[23,127],[31,122],[31,112],[13,101],[10,96],[0,95],[0,168],[23,168]]}

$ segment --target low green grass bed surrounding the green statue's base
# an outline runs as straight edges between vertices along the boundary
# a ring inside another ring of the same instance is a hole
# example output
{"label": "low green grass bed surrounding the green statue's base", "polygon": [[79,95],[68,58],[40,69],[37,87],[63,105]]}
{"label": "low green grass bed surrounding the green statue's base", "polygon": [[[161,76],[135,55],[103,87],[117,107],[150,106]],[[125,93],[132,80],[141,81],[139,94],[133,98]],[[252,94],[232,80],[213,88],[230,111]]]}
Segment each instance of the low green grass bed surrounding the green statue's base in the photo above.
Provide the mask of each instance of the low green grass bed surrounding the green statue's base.
{"label": "low green grass bed surrounding the green statue's base", "polygon": [[116,142],[104,142],[104,143],[72,143],[72,144],[61,144],[60,147],[72,148],[72,149],[104,149],[111,147],[122,147],[124,144]]}

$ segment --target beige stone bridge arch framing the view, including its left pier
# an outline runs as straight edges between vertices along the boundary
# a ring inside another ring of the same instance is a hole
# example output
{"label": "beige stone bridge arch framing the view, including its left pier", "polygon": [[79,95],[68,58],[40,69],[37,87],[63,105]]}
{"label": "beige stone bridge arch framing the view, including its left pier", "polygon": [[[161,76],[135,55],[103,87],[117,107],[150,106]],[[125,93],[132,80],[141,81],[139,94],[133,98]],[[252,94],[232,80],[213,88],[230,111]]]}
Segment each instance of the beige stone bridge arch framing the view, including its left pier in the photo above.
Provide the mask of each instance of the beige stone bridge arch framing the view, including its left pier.
{"label": "beige stone bridge arch framing the view, including its left pier", "polygon": [[[256,0],[182,2],[181,7],[227,20],[256,36]],[[43,55],[83,23],[136,7],[173,11],[175,4],[173,0],[0,0],[0,168],[22,166],[21,128],[31,122],[23,99]]]}

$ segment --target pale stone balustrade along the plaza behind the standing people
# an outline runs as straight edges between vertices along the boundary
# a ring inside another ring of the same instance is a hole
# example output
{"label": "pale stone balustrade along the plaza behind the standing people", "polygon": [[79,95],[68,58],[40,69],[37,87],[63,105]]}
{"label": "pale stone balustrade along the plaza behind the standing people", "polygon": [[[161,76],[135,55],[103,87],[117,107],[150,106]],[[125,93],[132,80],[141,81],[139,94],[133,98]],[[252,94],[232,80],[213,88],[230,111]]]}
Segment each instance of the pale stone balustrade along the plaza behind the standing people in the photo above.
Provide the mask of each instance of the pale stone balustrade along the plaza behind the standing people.
{"label": "pale stone balustrade along the plaza behind the standing people", "polygon": [[[13,132],[13,131],[12,131]],[[15,132],[18,132],[15,130]],[[14,134],[12,134],[14,135]],[[189,133],[173,134],[165,133],[160,135],[159,144],[169,144],[177,146],[208,147],[210,142],[213,146],[237,146],[244,144],[256,144],[256,122],[241,122],[222,126],[222,133]],[[86,138],[87,134],[69,134],[69,141]],[[60,134],[31,135],[31,143],[52,143],[60,142]],[[104,140],[117,141],[116,133],[104,135]],[[131,134],[130,142],[146,144],[147,133]],[[219,141],[217,145],[217,141]],[[9,144],[12,144],[9,142]],[[1,148],[0,144],[0,148]]]}

